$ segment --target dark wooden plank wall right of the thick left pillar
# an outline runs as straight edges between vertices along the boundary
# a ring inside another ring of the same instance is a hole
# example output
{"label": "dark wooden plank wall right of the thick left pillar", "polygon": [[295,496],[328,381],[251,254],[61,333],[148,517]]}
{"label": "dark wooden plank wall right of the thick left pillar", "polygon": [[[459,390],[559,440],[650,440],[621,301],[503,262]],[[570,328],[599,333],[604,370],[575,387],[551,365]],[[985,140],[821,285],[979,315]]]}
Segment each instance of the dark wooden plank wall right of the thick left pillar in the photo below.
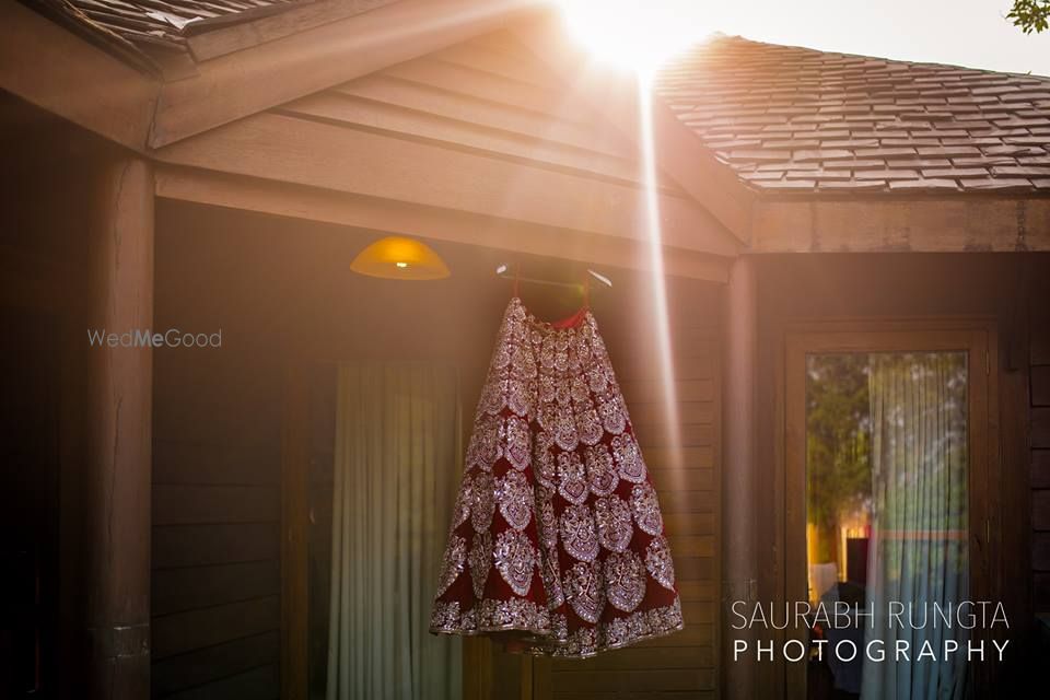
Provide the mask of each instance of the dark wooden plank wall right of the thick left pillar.
{"label": "dark wooden plank wall right of the thick left pillar", "polygon": [[245,331],[254,314],[265,318],[267,290],[254,293],[256,312],[220,311],[215,296],[252,295],[231,275],[236,258],[213,248],[222,272],[203,273],[183,233],[162,218],[158,328],[223,338],[155,352],[152,697],[275,700],[280,376],[265,334]]}

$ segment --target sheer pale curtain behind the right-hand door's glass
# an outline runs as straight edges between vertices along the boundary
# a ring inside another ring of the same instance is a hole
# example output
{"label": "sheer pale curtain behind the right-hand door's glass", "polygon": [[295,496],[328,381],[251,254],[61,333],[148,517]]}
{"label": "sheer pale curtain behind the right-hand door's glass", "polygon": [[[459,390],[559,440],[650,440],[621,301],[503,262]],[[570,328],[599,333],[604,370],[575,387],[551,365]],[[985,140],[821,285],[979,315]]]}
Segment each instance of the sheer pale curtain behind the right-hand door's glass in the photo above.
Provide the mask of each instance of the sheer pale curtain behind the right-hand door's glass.
{"label": "sheer pale curtain behind the right-hand door's glass", "polygon": [[[961,352],[873,354],[868,375],[873,512],[867,605],[868,641],[882,639],[886,661],[864,661],[864,700],[960,698],[966,686],[966,630],[933,623],[934,603],[967,599],[966,355]],[[911,605],[911,625],[890,625],[888,605]],[[923,625],[923,610],[928,617]],[[961,653],[944,653],[946,639]],[[896,660],[898,640],[911,661]],[[917,660],[929,641],[935,660]],[[947,658],[947,660],[946,660]]]}

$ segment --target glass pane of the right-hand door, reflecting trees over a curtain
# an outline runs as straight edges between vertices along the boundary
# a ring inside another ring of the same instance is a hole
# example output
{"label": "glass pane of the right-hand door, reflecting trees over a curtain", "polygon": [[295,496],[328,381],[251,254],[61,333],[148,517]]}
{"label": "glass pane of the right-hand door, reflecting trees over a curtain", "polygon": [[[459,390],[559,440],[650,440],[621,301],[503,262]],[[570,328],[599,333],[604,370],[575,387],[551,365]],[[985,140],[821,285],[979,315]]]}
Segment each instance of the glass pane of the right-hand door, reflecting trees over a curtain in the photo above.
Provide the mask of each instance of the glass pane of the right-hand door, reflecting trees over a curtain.
{"label": "glass pane of the right-hand door, reflecting trees over a curtain", "polygon": [[[845,603],[875,622],[821,629],[829,645],[872,640],[941,648],[967,631],[885,623],[967,599],[965,352],[826,353],[806,358],[806,555],[813,606]],[[910,609],[910,607],[909,607]],[[966,662],[891,664],[810,655],[810,698],[961,697]]]}

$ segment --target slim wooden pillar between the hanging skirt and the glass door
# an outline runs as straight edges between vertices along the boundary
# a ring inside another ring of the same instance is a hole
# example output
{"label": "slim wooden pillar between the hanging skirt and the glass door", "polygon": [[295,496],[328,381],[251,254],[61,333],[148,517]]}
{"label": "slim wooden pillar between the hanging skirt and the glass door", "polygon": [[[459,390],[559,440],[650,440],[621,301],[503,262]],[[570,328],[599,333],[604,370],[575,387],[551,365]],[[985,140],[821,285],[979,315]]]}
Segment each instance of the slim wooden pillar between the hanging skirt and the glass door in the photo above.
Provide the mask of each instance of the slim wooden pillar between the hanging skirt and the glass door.
{"label": "slim wooden pillar between the hanging skirt and the glass door", "polygon": [[[756,381],[758,372],[757,289],[754,260],[736,258],[725,293],[725,398],[722,471],[723,604],[722,688],[725,698],[755,697],[755,643],[747,630],[734,630],[730,614],[735,600],[754,602],[757,588],[755,489],[758,488],[756,448]],[[748,608],[752,605],[748,605]],[[745,640],[750,654],[733,660],[735,640]]]}

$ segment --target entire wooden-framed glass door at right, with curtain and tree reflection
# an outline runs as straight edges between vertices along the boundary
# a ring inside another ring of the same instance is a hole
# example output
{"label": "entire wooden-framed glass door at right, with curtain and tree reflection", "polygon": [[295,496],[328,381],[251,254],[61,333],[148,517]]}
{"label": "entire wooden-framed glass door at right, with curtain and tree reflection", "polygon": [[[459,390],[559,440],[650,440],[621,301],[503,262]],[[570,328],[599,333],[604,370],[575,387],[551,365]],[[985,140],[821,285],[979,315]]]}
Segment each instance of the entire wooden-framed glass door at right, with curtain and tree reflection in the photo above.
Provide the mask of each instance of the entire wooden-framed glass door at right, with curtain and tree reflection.
{"label": "entire wooden-framed glass door at right, with curtain and tree reflection", "polygon": [[813,610],[789,696],[972,685],[965,650],[981,632],[958,616],[984,587],[987,352],[987,334],[965,331],[789,343],[789,599]]}

